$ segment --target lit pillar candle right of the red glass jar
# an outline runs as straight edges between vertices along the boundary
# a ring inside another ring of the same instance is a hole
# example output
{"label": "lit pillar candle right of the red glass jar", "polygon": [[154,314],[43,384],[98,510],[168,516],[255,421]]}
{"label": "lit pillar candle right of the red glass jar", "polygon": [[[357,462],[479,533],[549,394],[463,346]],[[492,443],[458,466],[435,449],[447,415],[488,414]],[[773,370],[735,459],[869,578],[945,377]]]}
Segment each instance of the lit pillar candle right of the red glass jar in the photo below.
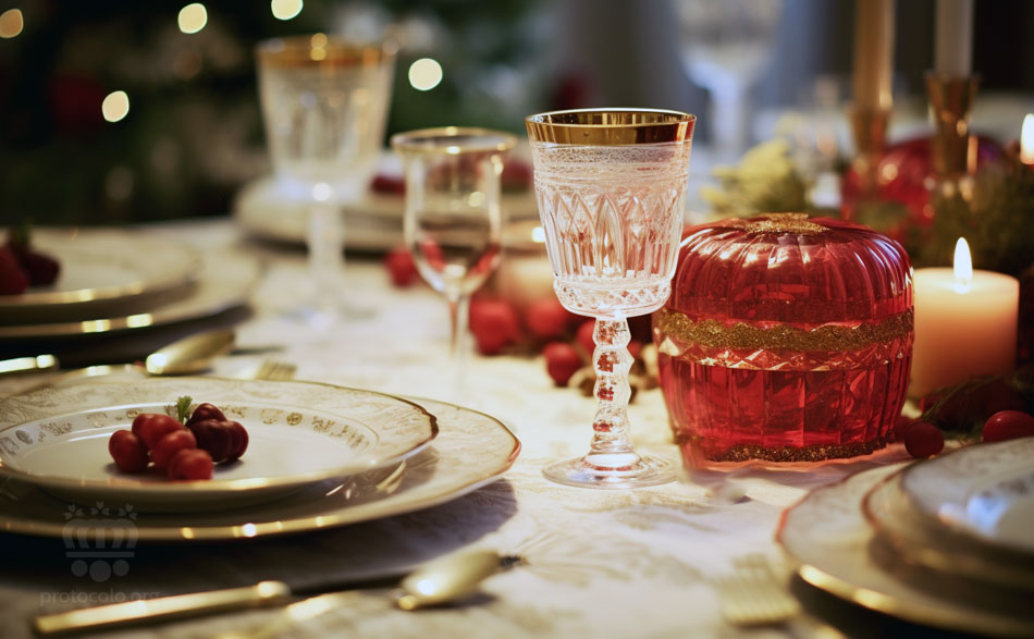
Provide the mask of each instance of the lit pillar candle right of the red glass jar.
{"label": "lit pillar candle right of the red glass jar", "polygon": [[969,260],[969,246],[959,239],[955,269],[915,271],[909,385],[913,397],[972,377],[1007,373],[1015,366],[1020,282],[973,271]]}

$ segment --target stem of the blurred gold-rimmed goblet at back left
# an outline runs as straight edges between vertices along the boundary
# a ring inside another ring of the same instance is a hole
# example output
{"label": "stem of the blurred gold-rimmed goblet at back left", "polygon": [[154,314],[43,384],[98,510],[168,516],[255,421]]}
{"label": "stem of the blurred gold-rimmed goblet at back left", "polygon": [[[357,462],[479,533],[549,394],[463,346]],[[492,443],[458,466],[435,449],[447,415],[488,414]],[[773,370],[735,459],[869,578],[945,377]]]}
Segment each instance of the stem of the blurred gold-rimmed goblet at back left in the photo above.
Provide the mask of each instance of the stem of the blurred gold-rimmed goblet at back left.
{"label": "stem of the blurred gold-rimmed goblet at back left", "polygon": [[336,310],[341,272],[344,269],[344,220],[333,201],[313,205],[309,210],[309,273],[316,284],[315,306],[323,312]]}

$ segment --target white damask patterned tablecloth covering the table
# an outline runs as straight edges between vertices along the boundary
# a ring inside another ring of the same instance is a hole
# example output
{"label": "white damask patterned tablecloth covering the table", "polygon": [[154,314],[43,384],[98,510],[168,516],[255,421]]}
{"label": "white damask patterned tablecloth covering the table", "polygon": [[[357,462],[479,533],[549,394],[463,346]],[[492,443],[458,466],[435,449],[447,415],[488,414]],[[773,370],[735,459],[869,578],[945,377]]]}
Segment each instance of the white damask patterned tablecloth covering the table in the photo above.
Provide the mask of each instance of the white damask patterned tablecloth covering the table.
{"label": "white damask patterned tablecloth covering the table", "polygon": [[[520,439],[505,477],[444,505],[313,533],[233,543],[139,543],[130,572],[96,582],[70,570],[60,540],[2,536],[0,619],[8,637],[28,636],[27,619],[89,601],[153,597],[249,585],[371,574],[460,549],[494,549],[526,560],[484,583],[467,605],[407,613],[385,591],[297,625],[290,636],[385,637],[684,637],[739,632],[721,618],[712,580],[735,556],[776,556],[779,515],[808,490],[857,470],[904,458],[891,448],[852,462],[810,467],[747,467],[734,481],[746,494],[729,502],[684,480],[635,491],[568,488],[541,469],[583,452],[594,403],[555,388],[541,357],[471,356],[461,385],[446,358],[444,300],[417,285],[394,288],[379,262],[348,262],[342,287],[352,317],[325,331],[293,316],[306,270],[299,251],[257,247],[226,222],[153,230],[207,250],[258,251],[268,269],[255,291],[255,315],[238,328],[242,346],[279,345],[297,378],[433,397],[487,411]],[[261,356],[231,356],[216,373],[246,374]],[[658,390],[630,408],[638,447],[675,460]],[[125,637],[196,637],[247,628],[278,615],[249,611],[127,629]],[[752,630],[752,636],[776,629]]]}

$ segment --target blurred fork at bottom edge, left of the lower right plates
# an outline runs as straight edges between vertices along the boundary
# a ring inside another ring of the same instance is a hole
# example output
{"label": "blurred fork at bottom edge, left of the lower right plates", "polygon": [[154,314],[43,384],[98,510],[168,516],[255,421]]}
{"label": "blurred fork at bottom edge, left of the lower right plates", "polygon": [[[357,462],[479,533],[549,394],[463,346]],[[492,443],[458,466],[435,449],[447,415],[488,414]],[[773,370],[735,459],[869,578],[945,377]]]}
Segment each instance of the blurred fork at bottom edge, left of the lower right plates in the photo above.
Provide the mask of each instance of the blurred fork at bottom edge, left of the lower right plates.
{"label": "blurred fork at bottom edge, left of the lower right plates", "polygon": [[844,634],[813,617],[787,591],[780,578],[762,554],[751,553],[733,560],[731,574],[716,579],[722,616],[735,626],[786,626],[795,635],[839,639]]}

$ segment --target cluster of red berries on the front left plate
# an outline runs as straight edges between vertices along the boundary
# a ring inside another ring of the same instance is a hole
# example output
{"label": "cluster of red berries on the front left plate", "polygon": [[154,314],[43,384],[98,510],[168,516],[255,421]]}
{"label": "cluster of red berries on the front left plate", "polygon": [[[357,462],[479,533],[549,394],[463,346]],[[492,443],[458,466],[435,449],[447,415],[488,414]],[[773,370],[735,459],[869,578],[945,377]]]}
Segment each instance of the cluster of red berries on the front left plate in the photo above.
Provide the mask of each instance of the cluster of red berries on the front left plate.
{"label": "cluster of red berries on the front left plate", "polygon": [[211,479],[216,464],[235,462],[248,448],[248,431],[226,419],[212,404],[189,411],[190,397],[180,397],[180,419],[162,413],[141,413],[131,430],[118,430],[108,440],[108,452],[123,472],[149,468],[172,480]]}

